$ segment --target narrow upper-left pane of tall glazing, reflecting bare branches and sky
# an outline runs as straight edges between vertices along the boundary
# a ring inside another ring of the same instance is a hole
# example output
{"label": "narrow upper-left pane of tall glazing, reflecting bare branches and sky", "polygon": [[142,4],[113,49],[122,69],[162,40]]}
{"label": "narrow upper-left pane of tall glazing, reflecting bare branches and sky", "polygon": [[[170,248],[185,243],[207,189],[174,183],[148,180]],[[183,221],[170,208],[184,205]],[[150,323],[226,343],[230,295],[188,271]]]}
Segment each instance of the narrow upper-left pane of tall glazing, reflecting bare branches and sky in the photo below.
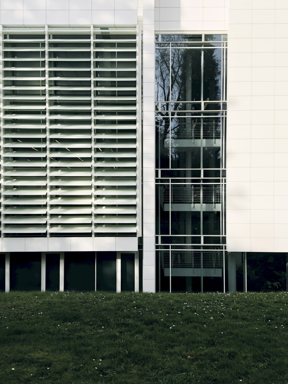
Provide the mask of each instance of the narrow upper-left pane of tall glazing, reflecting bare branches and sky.
{"label": "narrow upper-left pane of tall glazing, reflecting bare branches and sky", "polygon": [[156,49],[155,100],[170,101],[170,50]]}

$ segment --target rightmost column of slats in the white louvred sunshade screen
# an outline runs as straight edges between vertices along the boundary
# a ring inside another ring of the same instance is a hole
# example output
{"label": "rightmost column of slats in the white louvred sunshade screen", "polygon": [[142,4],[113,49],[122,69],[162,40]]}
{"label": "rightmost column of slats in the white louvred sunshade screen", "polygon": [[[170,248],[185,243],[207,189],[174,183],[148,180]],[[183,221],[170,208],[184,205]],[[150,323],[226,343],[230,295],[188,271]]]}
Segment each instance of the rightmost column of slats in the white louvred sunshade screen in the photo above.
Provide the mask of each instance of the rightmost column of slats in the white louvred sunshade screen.
{"label": "rightmost column of slats in the white louvred sunshade screen", "polygon": [[94,33],[95,232],[135,233],[136,33]]}

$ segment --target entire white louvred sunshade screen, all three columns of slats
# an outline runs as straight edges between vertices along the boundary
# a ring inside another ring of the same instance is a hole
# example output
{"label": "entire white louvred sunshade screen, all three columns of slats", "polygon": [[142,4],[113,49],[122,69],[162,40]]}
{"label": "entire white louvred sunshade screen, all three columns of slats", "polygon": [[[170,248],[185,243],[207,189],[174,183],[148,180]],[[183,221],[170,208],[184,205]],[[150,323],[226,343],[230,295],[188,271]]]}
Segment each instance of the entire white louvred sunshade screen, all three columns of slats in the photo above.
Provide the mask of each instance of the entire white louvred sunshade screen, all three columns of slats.
{"label": "entire white louvred sunshade screen, all three columns of slats", "polygon": [[1,230],[136,235],[136,30],[2,30]]}

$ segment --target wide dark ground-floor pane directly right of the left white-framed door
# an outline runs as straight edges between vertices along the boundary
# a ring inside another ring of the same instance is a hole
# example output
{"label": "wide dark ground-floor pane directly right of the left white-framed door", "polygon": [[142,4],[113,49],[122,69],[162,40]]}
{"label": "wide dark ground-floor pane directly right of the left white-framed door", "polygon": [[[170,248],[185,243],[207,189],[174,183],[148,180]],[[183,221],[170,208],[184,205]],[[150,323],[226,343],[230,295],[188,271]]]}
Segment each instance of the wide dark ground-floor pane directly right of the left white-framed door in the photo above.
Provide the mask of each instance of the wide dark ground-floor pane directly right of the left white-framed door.
{"label": "wide dark ground-floor pane directly right of the left white-framed door", "polygon": [[95,290],[95,253],[65,252],[65,290]]}

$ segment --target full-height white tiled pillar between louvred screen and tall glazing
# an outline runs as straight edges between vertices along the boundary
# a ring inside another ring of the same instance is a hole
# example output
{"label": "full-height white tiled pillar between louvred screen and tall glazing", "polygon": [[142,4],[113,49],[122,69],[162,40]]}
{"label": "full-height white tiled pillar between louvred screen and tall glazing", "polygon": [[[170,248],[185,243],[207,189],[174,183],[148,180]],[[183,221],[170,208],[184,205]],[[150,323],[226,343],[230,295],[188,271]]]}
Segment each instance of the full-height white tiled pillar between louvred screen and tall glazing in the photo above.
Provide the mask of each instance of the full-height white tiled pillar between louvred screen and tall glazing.
{"label": "full-height white tiled pillar between louvred screen and tall glazing", "polygon": [[155,292],[154,0],[143,0],[143,292]]}

